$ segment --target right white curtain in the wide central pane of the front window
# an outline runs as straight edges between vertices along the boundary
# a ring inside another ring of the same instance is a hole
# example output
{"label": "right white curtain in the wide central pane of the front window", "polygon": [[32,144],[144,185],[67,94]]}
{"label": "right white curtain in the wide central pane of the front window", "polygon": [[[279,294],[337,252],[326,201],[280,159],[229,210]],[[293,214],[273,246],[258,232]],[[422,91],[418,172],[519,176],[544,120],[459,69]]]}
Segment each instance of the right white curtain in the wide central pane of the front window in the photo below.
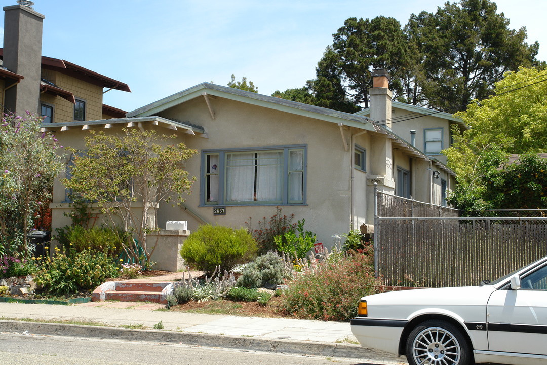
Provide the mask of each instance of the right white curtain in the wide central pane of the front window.
{"label": "right white curtain in the wide central pane of the front window", "polygon": [[257,201],[281,202],[283,153],[259,152],[257,165]]}

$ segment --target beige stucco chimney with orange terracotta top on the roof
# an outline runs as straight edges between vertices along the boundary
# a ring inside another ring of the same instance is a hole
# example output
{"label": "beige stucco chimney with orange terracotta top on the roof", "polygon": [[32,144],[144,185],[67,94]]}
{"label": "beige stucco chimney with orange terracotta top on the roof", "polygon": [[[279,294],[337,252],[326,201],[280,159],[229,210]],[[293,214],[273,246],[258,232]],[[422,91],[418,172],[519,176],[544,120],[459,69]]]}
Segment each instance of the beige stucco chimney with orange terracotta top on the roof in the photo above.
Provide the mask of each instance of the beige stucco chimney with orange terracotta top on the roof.
{"label": "beige stucco chimney with orange terracotta top on the roof", "polygon": [[369,89],[370,117],[381,125],[391,129],[391,99],[389,73],[383,69],[373,70],[373,88]]}

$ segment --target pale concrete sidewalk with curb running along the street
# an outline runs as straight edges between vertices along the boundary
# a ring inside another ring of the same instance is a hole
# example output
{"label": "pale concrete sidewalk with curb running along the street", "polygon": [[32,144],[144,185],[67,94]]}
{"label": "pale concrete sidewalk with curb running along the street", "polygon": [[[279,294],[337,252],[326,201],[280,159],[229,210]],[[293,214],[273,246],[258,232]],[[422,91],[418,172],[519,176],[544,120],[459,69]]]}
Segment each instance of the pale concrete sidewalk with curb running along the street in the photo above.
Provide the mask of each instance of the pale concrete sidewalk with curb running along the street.
{"label": "pale concrete sidewalk with curb running along the street", "polygon": [[[350,324],[345,322],[189,314],[142,310],[143,308],[139,310],[138,303],[108,304],[129,307],[123,309],[85,305],[0,303],[0,332],[28,331],[34,334],[278,351],[356,358],[360,362],[374,364],[405,363],[403,358],[353,344],[355,338],[351,333]],[[33,322],[26,321],[26,318]],[[95,325],[66,324],[68,322],[93,322]],[[164,328],[153,329],[154,325],[160,322]]]}

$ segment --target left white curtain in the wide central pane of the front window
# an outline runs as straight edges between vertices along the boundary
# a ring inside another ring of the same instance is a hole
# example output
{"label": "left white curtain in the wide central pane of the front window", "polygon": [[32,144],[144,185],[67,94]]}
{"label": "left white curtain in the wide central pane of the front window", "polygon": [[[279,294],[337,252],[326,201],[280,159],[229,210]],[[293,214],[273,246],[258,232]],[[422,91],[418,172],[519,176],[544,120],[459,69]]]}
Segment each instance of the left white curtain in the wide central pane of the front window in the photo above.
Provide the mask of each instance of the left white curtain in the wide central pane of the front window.
{"label": "left white curtain in the wide central pane of the front window", "polygon": [[254,200],[254,153],[226,154],[226,201]]}

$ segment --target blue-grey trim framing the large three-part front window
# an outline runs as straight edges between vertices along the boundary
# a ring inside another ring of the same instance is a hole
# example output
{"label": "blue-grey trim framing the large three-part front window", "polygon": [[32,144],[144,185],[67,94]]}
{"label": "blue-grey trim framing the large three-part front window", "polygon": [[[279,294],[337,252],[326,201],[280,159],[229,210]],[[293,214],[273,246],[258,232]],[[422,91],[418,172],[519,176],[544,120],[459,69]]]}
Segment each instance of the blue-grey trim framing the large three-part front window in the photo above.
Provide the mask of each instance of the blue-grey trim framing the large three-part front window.
{"label": "blue-grey trim framing the large three-part front window", "polygon": [[[288,179],[289,179],[289,150],[301,149],[304,151],[302,168],[304,176],[302,178],[302,202],[288,201]],[[283,187],[281,202],[250,202],[241,203],[225,201],[225,163],[226,153],[232,152],[264,152],[268,150],[283,150]],[[206,166],[207,155],[218,154],[218,200],[217,202],[207,202],[207,186],[206,186]],[[278,205],[307,205],[306,186],[307,186],[307,144],[292,144],[289,146],[268,146],[268,147],[243,147],[243,148],[216,148],[201,150],[201,167],[200,167],[200,206],[278,206]]]}

